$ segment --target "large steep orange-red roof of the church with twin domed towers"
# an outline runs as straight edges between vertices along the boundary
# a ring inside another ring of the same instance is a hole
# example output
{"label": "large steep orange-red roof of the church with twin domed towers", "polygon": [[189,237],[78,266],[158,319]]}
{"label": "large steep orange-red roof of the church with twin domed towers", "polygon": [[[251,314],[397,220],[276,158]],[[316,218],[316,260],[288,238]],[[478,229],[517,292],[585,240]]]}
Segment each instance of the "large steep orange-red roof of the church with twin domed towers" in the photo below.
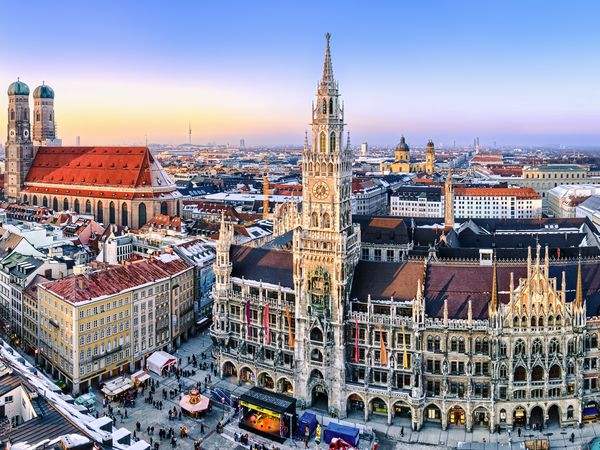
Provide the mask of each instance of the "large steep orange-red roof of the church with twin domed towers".
{"label": "large steep orange-red roof of the church with twin domed towers", "polygon": [[149,187],[153,162],[147,147],[40,147],[25,182]]}

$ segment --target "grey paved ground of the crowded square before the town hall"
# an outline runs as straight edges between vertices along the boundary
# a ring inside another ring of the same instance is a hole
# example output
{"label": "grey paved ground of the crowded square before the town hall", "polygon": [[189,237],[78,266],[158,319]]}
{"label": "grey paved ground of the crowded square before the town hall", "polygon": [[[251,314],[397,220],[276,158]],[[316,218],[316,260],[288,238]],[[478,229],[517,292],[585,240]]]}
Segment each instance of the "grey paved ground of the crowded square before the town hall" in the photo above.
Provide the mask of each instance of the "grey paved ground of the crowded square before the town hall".
{"label": "grey paved ground of the crowded square before the town hall", "polygon": [[[204,352],[210,369],[210,348],[211,341],[207,332],[198,336],[192,337],[189,341],[183,343],[181,347],[174,352],[175,356],[181,359],[183,369],[192,369],[191,365],[187,364],[187,357],[192,354],[196,354],[196,357]],[[31,357],[27,357],[32,359]],[[199,361],[202,361],[199,359]],[[184,378],[186,385],[195,385],[197,381],[201,381],[204,384],[204,377],[208,376],[210,370],[196,370],[196,375],[188,378]],[[156,398],[162,398],[162,389],[176,389],[177,380],[175,377],[157,377],[152,374],[155,380],[159,380],[160,386],[157,390]],[[221,380],[212,374],[212,383],[209,383],[211,388],[221,388],[234,396],[239,397],[242,393],[250,388],[248,385],[239,385],[231,382],[231,380]],[[94,391],[97,394],[98,406],[97,410],[102,415],[102,394],[98,391]],[[183,392],[187,392],[184,390]],[[172,400],[164,401],[163,410],[159,411],[151,404],[144,403],[144,399],[139,397],[136,401],[134,408],[128,408],[128,418],[121,421],[118,419],[117,425],[127,428],[128,430],[135,430],[135,424],[137,421],[141,424],[141,432],[136,433],[141,439],[150,442],[150,438],[153,440],[158,439],[158,430],[162,428],[173,427],[175,432],[178,434],[180,426],[186,426],[189,429],[190,437],[177,439],[177,449],[188,450],[193,449],[194,441],[201,441],[202,449],[204,450],[224,450],[224,449],[243,449],[244,446],[234,441],[234,434],[240,433],[241,430],[237,427],[235,421],[228,422],[225,426],[225,430],[222,434],[216,434],[215,428],[219,420],[227,420],[231,414],[229,411],[219,409],[218,407],[213,408],[213,412],[204,419],[205,434],[200,433],[200,421],[194,420],[188,417],[183,417],[181,421],[168,420],[167,411],[173,406],[177,406],[179,409],[179,396],[176,396]],[[116,410],[116,408],[115,408]],[[302,412],[299,411],[299,414]],[[318,417],[322,417],[320,412],[316,412]],[[600,436],[600,423],[593,423],[585,425],[583,428],[572,428],[568,427],[565,429],[559,427],[550,427],[545,429],[543,432],[533,432],[530,430],[523,430],[522,436],[519,438],[517,433],[512,433],[509,436],[508,432],[502,431],[500,433],[490,433],[485,428],[475,428],[473,432],[467,433],[464,428],[449,428],[442,430],[439,426],[426,425],[420,431],[411,431],[410,424],[406,423],[395,423],[393,425],[387,425],[386,420],[382,417],[375,416],[372,420],[365,423],[363,418],[348,418],[344,419],[345,422],[350,425],[354,425],[361,428],[366,428],[367,434],[374,433],[377,437],[379,449],[382,450],[400,450],[400,449],[411,449],[411,450],[422,450],[431,449],[432,447],[441,448],[462,448],[462,449],[481,449],[481,450],[509,450],[509,449],[521,449],[524,448],[523,442],[525,439],[533,438],[548,438],[550,441],[550,448],[554,449],[567,449],[567,450],[579,450],[585,449],[596,436]],[[404,425],[404,436],[401,436],[401,427]],[[148,436],[146,429],[148,426],[154,426],[154,436]],[[245,431],[244,431],[245,432]],[[575,434],[575,442],[571,443],[569,437],[571,433]],[[287,440],[284,444],[277,444],[269,441],[268,439],[252,436],[251,440],[255,443],[265,444],[268,449],[275,448],[280,449],[294,449],[304,448],[303,442],[293,442]],[[366,442],[363,442],[362,448],[368,446]],[[171,445],[167,440],[160,442],[160,449],[171,449]],[[309,443],[309,448],[316,449],[317,446],[313,442]],[[325,445],[321,444],[321,449],[326,448]]]}

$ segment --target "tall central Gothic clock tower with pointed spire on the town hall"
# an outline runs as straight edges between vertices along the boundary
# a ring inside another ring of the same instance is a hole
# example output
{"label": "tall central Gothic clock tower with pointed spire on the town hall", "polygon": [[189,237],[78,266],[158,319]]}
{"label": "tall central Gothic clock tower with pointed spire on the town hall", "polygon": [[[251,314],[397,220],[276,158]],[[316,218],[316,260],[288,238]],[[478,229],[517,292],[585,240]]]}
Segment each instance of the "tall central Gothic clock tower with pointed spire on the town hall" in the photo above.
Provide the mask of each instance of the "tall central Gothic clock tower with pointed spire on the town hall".
{"label": "tall central Gothic clock tower with pointed spire on the town hall", "polygon": [[333,78],[330,35],[302,153],[302,220],[294,232],[295,394],[345,411],[344,313],[360,250],[352,225],[352,151],[342,145],[344,107]]}

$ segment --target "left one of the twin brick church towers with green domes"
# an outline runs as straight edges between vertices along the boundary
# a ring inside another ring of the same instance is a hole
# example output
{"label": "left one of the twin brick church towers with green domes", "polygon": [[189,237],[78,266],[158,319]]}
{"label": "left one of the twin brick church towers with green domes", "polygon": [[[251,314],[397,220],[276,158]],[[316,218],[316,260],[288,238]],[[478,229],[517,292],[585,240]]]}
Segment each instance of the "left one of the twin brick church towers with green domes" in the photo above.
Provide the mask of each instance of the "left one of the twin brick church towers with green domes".
{"label": "left one of the twin brick church towers with green domes", "polygon": [[5,192],[9,202],[20,200],[21,188],[33,160],[29,123],[29,87],[15,81],[8,87],[8,135],[5,145]]}

